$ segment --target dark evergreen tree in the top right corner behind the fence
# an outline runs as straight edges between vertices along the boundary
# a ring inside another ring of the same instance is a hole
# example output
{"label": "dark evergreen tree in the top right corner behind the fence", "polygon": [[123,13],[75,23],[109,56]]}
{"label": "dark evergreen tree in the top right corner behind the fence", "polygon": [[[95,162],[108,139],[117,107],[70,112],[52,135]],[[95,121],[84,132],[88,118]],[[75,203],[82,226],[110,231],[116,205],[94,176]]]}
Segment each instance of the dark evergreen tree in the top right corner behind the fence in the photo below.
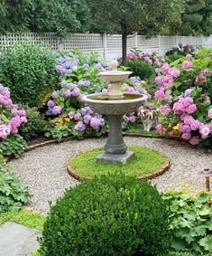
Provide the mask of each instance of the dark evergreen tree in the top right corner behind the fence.
{"label": "dark evergreen tree in the top right corner behind the fence", "polygon": [[212,0],[186,0],[185,13],[181,15],[182,35],[209,35],[212,33]]}

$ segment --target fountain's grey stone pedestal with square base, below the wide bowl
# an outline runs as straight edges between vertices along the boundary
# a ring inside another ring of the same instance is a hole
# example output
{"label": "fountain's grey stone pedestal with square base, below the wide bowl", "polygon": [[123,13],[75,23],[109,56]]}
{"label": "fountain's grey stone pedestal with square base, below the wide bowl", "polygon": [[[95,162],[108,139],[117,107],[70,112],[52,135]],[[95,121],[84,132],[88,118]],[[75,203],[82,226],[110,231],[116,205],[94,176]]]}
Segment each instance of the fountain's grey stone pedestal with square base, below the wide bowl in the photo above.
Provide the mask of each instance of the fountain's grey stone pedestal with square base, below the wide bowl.
{"label": "fountain's grey stone pedestal with square base, below the wide bowl", "polygon": [[134,152],[126,151],[122,134],[123,116],[107,116],[109,122],[109,132],[104,147],[105,152],[97,156],[99,162],[112,162],[125,164],[129,159],[134,157]]}

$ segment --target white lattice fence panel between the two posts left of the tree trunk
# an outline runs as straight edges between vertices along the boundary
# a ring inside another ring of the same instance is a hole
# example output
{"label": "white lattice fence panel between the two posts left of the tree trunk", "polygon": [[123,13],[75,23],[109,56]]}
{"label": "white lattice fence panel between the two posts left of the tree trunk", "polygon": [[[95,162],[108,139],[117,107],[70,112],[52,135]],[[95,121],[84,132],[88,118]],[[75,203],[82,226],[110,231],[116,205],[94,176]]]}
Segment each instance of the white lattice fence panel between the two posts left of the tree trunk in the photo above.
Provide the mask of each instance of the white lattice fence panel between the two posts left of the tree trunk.
{"label": "white lattice fence panel between the two posts left of the tree trunk", "polygon": [[74,33],[62,43],[62,50],[70,51],[74,47],[80,50],[102,49],[103,36],[96,33]]}

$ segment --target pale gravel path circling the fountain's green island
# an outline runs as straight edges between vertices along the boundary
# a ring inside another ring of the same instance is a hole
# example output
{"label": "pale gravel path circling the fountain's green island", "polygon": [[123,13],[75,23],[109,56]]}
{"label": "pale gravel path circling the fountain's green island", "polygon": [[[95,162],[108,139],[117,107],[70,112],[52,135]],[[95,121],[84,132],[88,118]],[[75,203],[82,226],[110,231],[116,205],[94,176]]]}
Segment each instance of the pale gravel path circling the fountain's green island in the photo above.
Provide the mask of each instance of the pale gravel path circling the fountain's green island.
{"label": "pale gravel path circling the fountain's green island", "polygon": [[[212,154],[207,150],[161,138],[125,137],[124,140],[127,145],[159,149],[171,159],[170,170],[152,180],[159,190],[180,188],[185,183],[191,185],[194,190],[205,188],[205,177],[200,171],[212,166]],[[78,181],[67,173],[68,159],[78,152],[103,147],[105,142],[105,138],[70,140],[36,148],[14,160],[16,175],[21,178],[23,184],[29,186],[33,195],[30,206],[47,213],[48,202],[55,202],[65,188],[78,184]]]}

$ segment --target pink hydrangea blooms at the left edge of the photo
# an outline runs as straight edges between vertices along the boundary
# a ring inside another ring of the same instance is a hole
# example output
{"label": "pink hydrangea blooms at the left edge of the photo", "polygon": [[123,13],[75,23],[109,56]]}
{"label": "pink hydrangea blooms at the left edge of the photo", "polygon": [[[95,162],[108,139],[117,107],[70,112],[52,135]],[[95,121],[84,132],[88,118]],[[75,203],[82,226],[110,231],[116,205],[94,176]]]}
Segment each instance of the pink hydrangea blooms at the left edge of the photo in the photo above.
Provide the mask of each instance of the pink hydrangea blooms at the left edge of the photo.
{"label": "pink hydrangea blooms at the left edge of the photo", "polygon": [[19,109],[10,99],[10,91],[0,84],[0,138],[6,139],[10,134],[17,134],[18,128],[27,123],[26,111]]}

